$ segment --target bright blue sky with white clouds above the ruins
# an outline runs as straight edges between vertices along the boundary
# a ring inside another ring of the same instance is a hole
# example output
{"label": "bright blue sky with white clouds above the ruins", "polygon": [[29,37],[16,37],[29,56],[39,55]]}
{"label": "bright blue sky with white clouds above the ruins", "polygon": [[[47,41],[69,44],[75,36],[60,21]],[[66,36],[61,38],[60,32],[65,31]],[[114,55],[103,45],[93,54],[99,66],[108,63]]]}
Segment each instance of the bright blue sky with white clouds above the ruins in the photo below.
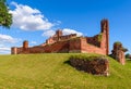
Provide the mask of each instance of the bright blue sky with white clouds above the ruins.
{"label": "bright blue sky with white clouds above the ruins", "polygon": [[109,20],[110,50],[121,41],[131,52],[131,0],[7,0],[13,14],[10,29],[0,27],[0,53],[11,47],[45,42],[58,28],[63,33],[94,36],[100,31],[100,21]]}

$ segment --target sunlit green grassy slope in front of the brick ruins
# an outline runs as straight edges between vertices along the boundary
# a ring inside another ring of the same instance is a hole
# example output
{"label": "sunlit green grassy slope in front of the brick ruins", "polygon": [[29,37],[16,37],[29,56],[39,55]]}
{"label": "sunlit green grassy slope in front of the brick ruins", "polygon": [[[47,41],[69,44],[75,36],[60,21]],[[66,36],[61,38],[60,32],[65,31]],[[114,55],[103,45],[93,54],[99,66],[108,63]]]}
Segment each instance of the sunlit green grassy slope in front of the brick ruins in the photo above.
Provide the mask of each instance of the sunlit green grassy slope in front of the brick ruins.
{"label": "sunlit green grassy slope in front of the brick ruins", "polygon": [[109,59],[110,76],[93,76],[66,64],[70,55],[0,55],[0,89],[130,89],[131,62]]}

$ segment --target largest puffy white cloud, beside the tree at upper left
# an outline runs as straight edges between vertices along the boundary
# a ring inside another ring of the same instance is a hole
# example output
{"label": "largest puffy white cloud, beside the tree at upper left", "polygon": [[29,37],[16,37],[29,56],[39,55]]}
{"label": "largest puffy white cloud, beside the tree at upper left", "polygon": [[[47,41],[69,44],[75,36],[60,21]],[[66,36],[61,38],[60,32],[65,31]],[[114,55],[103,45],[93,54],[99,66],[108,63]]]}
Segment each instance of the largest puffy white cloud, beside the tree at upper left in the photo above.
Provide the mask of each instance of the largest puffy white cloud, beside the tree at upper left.
{"label": "largest puffy white cloud, beside the tree at upper left", "polygon": [[13,27],[24,30],[45,30],[53,26],[39,10],[16,2],[12,4],[15,7],[10,11],[13,14]]}

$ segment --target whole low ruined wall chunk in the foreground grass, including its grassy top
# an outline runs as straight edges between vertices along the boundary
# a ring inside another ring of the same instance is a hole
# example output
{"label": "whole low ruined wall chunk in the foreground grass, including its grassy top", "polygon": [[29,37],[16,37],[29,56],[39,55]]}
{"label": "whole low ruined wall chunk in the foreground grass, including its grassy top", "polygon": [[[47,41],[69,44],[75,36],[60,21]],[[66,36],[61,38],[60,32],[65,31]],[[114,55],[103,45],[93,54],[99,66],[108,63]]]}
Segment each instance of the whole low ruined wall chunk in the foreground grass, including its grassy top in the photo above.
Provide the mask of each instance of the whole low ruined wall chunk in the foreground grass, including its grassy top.
{"label": "whole low ruined wall chunk in the foreground grass, including its grassy top", "polygon": [[109,75],[109,61],[102,55],[71,55],[69,64],[78,71],[83,71],[93,75]]}

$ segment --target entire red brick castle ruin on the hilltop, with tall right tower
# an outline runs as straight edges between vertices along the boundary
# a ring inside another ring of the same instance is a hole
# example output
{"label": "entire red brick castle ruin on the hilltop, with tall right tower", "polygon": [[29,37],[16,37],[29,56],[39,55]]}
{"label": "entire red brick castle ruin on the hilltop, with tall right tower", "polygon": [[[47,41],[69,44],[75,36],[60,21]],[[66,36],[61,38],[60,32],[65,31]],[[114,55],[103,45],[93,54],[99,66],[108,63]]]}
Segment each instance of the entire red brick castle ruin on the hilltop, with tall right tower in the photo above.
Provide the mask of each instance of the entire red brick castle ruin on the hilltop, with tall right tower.
{"label": "entire red brick castle ruin on the hilltop, with tall right tower", "polygon": [[78,37],[76,34],[63,36],[62,30],[57,30],[56,34],[43,44],[28,47],[28,41],[24,41],[23,47],[11,48],[11,54],[72,52],[107,55],[109,53],[108,20],[100,22],[100,33],[94,37]]}

